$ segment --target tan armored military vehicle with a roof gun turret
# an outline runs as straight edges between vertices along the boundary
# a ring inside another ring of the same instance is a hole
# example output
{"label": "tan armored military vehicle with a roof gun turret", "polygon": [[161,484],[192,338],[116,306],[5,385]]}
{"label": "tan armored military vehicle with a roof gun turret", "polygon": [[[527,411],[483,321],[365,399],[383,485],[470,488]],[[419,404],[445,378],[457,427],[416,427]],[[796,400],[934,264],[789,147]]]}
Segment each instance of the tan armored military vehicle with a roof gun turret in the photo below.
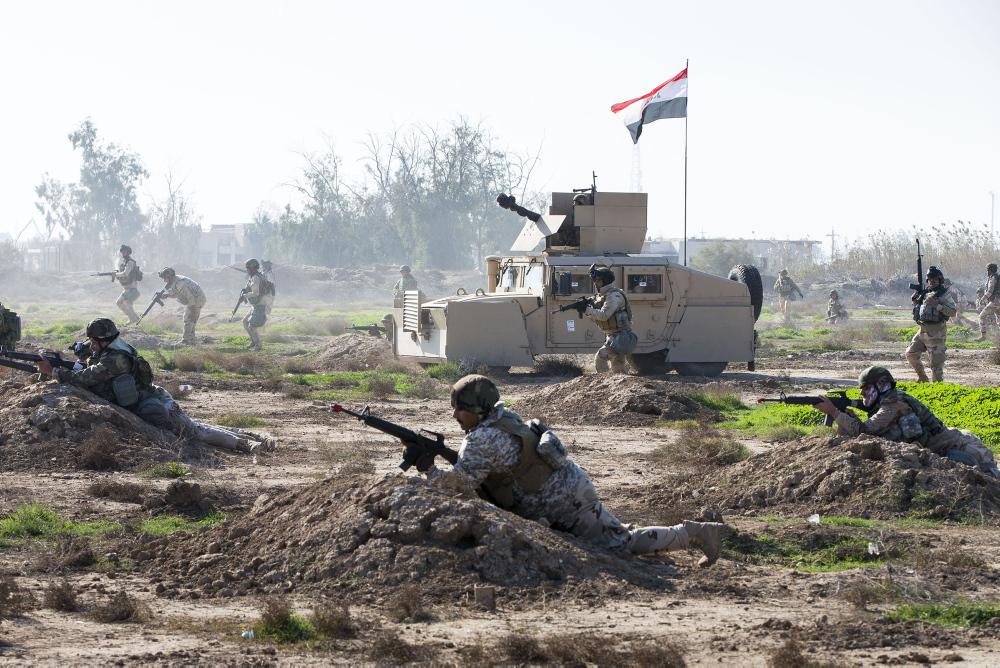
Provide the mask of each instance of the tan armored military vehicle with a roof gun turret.
{"label": "tan armored military vehicle with a roof gun turret", "polygon": [[[486,259],[485,289],[422,301],[407,292],[386,319],[397,358],[420,364],[532,366],[547,354],[593,353],[604,335],[589,318],[559,307],[593,295],[591,265],[609,267],[632,307],[639,373],[717,376],[733,362],[753,369],[762,286],[737,265],[730,279],[642,254],[645,193],[552,193],[548,215],[509,195],[497,203],[525,217],[511,255]],[[544,240],[544,250],[533,251]]]}

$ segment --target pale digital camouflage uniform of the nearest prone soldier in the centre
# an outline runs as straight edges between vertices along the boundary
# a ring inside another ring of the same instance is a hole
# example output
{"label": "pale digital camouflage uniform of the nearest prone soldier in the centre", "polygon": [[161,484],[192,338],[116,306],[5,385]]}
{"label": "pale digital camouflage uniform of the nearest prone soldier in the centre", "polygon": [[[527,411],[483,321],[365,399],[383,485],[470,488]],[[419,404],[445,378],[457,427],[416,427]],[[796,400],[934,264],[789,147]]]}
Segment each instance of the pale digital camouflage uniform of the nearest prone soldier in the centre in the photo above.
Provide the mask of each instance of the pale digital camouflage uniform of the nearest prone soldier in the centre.
{"label": "pale digital camouflage uniform of the nearest prone soldier in the centre", "polygon": [[[521,459],[522,443],[496,425],[506,420],[523,425],[521,418],[497,402],[479,424],[462,440],[458,462],[451,471],[432,468],[428,477],[442,485],[478,487],[492,475],[510,474]],[[551,434],[551,432],[547,432]],[[683,550],[692,545],[708,523],[684,522],[672,527],[633,528],[615,517],[597,497],[586,472],[566,457],[565,449],[552,434],[546,457],[554,470],[534,494],[512,484],[513,513],[542,522],[592,543],[623,549],[634,554],[657,550]],[[539,446],[541,454],[541,445]],[[718,527],[724,525],[712,525]]]}

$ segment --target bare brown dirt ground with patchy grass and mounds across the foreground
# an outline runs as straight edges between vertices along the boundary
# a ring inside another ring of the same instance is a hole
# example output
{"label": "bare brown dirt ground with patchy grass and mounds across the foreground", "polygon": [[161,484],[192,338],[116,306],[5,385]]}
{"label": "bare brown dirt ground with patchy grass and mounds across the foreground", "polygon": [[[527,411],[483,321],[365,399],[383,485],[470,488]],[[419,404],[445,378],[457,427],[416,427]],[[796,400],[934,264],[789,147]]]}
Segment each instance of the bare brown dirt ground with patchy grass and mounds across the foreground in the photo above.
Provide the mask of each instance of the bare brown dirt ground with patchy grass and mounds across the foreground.
{"label": "bare brown dirt ground with patchy grass and mounds across the foreground", "polygon": [[[65,317],[49,308],[24,315],[38,328]],[[498,379],[515,410],[530,408],[526,417],[544,415],[557,429],[623,521],[674,523],[722,512],[737,532],[714,567],[698,569],[695,552],[609,553],[411,479],[415,472],[397,468],[398,442],[327,406],[343,388],[345,403],[368,403],[387,419],[442,432],[457,447],[462,434],[446,382],[421,377],[413,384],[421,389],[380,398],[370,385],[349,386],[346,375],[317,376],[380,364],[401,378],[421,373],[393,367],[371,345],[359,346],[363,359],[352,367],[343,340],[321,335],[274,341],[265,351],[273,369],[223,371],[240,354],[223,338],[239,332],[223,323],[199,332],[204,350],[219,351],[215,366],[184,371],[175,353],[164,358],[174,368],[158,377],[193,386],[179,400],[196,419],[252,417],[244,426],[277,437],[274,452],[192,449],[107,416],[55,426],[45,411],[36,413],[56,401],[46,398],[58,388],[26,385],[23,375],[0,385],[0,517],[35,503],[74,527],[24,536],[0,525],[8,576],[0,583],[4,663],[1000,663],[1000,617],[945,628],[889,616],[905,604],[1000,601],[1000,515],[990,505],[1000,498],[996,483],[884,442],[861,447],[819,437],[771,444],[736,436],[755,454],[706,463],[681,447],[690,431],[662,422],[694,420],[711,431],[718,413],[689,398],[699,391],[749,400],[846,387],[873,363],[909,378],[905,344],[779,351],[755,372],[730,370],[711,380],[668,375],[602,385],[589,376],[517,369]],[[58,338],[32,336],[50,345]],[[310,353],[324,351],[329,364],[322,368],[282,371],[292,369],[289,360],[308,365]],[[952,351],[948,379],[995,385],[988,356]],[[587,419],[592,412],[566,409],[574,392],[607,398],[603,424]],[[637,394],[643,400],[634,401]],[[53,406],[73,415],[90,410]],[[117,461],[100,466],[65,455],[82,453],[89,430],[103,423],[116,439],[131,438]],[[86,434],[74,437],[79,430]],[[847,470],[851,477],[833,487]],[[896,474],[909,479],[909,496],[878,503]],[[944,514],[919,514],[918,497],[931,510],[949,499],[952,505]],[[808,519],[814,513],[818,524]],[[187,524],[167,531],[167,518]],[[97,520],[113,525],[102,531],[86,524]],[[52,603],[52,590],[65,583],[76,594],[76,605],[64,606],[73,611]],[[108,601],[118,592],[134,611],[113,614]],[[33,602],[18,606],[18,597]],[[306,618],[325,611],[327,623],[317,626],[327,632],[287,643],[244,637],[260,630],[268,597]],[[331,610],[340,614],[334,622]],[[109,621],[114,617],[124,619]]]}

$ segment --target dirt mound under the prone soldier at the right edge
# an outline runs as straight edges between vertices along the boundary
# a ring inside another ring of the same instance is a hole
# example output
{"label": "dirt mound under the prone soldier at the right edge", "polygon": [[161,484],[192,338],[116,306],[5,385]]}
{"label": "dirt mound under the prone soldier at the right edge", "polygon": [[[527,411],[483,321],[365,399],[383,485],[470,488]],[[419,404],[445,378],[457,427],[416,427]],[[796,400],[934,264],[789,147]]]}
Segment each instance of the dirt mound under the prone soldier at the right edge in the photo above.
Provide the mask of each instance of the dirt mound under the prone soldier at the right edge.
{"label": "dirt mound under the prone soldier at the right edge", "polygon": [[1000,523],[1000,481],[918,445],[874,436],[781,444],[721,472],[673,482],[649,502],[748,514],[767,508],[802,517],[911,515]]}

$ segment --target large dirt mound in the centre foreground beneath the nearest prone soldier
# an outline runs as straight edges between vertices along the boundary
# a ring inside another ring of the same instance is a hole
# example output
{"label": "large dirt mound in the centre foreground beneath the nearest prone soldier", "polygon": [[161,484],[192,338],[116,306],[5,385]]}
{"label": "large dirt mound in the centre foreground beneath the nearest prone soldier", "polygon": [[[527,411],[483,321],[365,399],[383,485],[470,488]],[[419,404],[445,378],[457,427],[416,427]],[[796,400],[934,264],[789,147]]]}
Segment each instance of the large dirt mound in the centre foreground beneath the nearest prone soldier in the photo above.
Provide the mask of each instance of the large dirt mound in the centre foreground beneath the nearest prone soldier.
{"label": "large dirt mound in the centre foreground beneath the nearest prone soldier", "polygon": [[398,474],[265,495],[231,525],[152,540],[133,557],[158,593],[187,598],[319,589],[381,602],[416,584],[457,600],[485,582],[511,600],[571,583],[665,589],[675,573]]}

